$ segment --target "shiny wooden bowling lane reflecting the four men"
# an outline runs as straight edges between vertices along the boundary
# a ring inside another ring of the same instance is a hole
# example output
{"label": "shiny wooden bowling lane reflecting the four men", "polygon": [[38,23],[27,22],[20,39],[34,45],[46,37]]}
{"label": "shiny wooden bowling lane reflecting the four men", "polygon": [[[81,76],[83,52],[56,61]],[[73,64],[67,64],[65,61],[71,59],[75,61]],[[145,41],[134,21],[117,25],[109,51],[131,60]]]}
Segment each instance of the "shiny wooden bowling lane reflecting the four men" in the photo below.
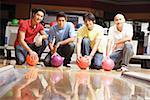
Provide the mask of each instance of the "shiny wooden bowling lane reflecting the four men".
{"label": "shiny wooden bowling lane reflecting the four men", "polygon": [[[14,69],[20,79],[1,100],[149,100],[150,84],[115,71],[45,68]],[[9,76],[8,76],[9,77]],[[21,77],[21,78],[20,78]],[[11,83],[11,82],[10,82]],[[9,83],[7,83],[8,85]],[[6,84],[0,85],[7,87]]]}

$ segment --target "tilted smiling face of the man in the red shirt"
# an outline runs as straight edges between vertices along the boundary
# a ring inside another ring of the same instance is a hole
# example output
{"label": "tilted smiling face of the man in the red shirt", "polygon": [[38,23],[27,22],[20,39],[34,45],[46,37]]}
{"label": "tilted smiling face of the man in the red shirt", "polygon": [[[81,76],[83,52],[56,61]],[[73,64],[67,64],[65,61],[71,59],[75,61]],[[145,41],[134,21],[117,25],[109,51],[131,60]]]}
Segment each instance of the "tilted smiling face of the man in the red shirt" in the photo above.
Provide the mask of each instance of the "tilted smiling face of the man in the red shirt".
{"label": "tilted smiling face of the man in the red shirt", "polygon": [[42,11],[38,11],[34,14],[33,20],[35,23],[40,23],[44,18],[44,13]]}

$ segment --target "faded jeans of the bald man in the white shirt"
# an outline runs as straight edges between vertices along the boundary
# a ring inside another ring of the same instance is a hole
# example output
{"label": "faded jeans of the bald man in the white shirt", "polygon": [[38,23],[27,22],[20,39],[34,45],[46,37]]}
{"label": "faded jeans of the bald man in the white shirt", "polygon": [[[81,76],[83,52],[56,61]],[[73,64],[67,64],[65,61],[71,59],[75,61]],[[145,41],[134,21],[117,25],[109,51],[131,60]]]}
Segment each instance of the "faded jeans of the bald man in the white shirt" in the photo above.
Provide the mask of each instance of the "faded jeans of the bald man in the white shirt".
{"label": "faded jeans of the bald man in the white shirt", "polygon": [[125,42],[122,50],[112,52],[110,58],[115,62],[114,69],[120,68],[121,65],[128,65],[133,54],[133,46],[130,42]]}

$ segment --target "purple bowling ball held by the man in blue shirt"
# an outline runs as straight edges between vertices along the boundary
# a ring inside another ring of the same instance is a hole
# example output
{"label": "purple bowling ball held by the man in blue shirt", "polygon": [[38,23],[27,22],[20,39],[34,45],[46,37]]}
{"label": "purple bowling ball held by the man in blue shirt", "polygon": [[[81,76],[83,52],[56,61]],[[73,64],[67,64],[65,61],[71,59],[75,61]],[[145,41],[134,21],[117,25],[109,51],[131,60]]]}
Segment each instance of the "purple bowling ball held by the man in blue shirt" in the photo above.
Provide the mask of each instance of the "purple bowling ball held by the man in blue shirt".
{"label": "purple bowling ball held by the man in blue shirt", "polygon": [[51,64],[54,67],[59,67],[63,64],[63,57],[61,57],[59,54],[53,54],[51,57]]}

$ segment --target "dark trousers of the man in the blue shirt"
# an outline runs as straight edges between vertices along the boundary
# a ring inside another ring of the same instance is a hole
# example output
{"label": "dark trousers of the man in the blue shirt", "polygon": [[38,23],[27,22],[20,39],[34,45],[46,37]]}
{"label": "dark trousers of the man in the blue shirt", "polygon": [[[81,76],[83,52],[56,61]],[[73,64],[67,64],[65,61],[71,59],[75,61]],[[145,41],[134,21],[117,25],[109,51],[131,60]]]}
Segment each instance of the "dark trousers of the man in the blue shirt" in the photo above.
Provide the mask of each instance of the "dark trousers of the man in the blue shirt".
{"label": "dark trousers of the man in the blue shirt", "polygon": [[[64,57],[64,62],[63,62],[63,65],[66,66],[67,64],[70,64],[70,61],[71,61],[71,57],[73,55],[73,52],[74,52],[74,48],[75,48],[75,44],[73,42],[70,42],[66,45],[62,45],[60,47],[58,47],[57,49],[57,53]],[[52,66],[51,65],[51,52],[48,53],[48,55],[45,57],[44,59],[44,64],[45,66]]]}

